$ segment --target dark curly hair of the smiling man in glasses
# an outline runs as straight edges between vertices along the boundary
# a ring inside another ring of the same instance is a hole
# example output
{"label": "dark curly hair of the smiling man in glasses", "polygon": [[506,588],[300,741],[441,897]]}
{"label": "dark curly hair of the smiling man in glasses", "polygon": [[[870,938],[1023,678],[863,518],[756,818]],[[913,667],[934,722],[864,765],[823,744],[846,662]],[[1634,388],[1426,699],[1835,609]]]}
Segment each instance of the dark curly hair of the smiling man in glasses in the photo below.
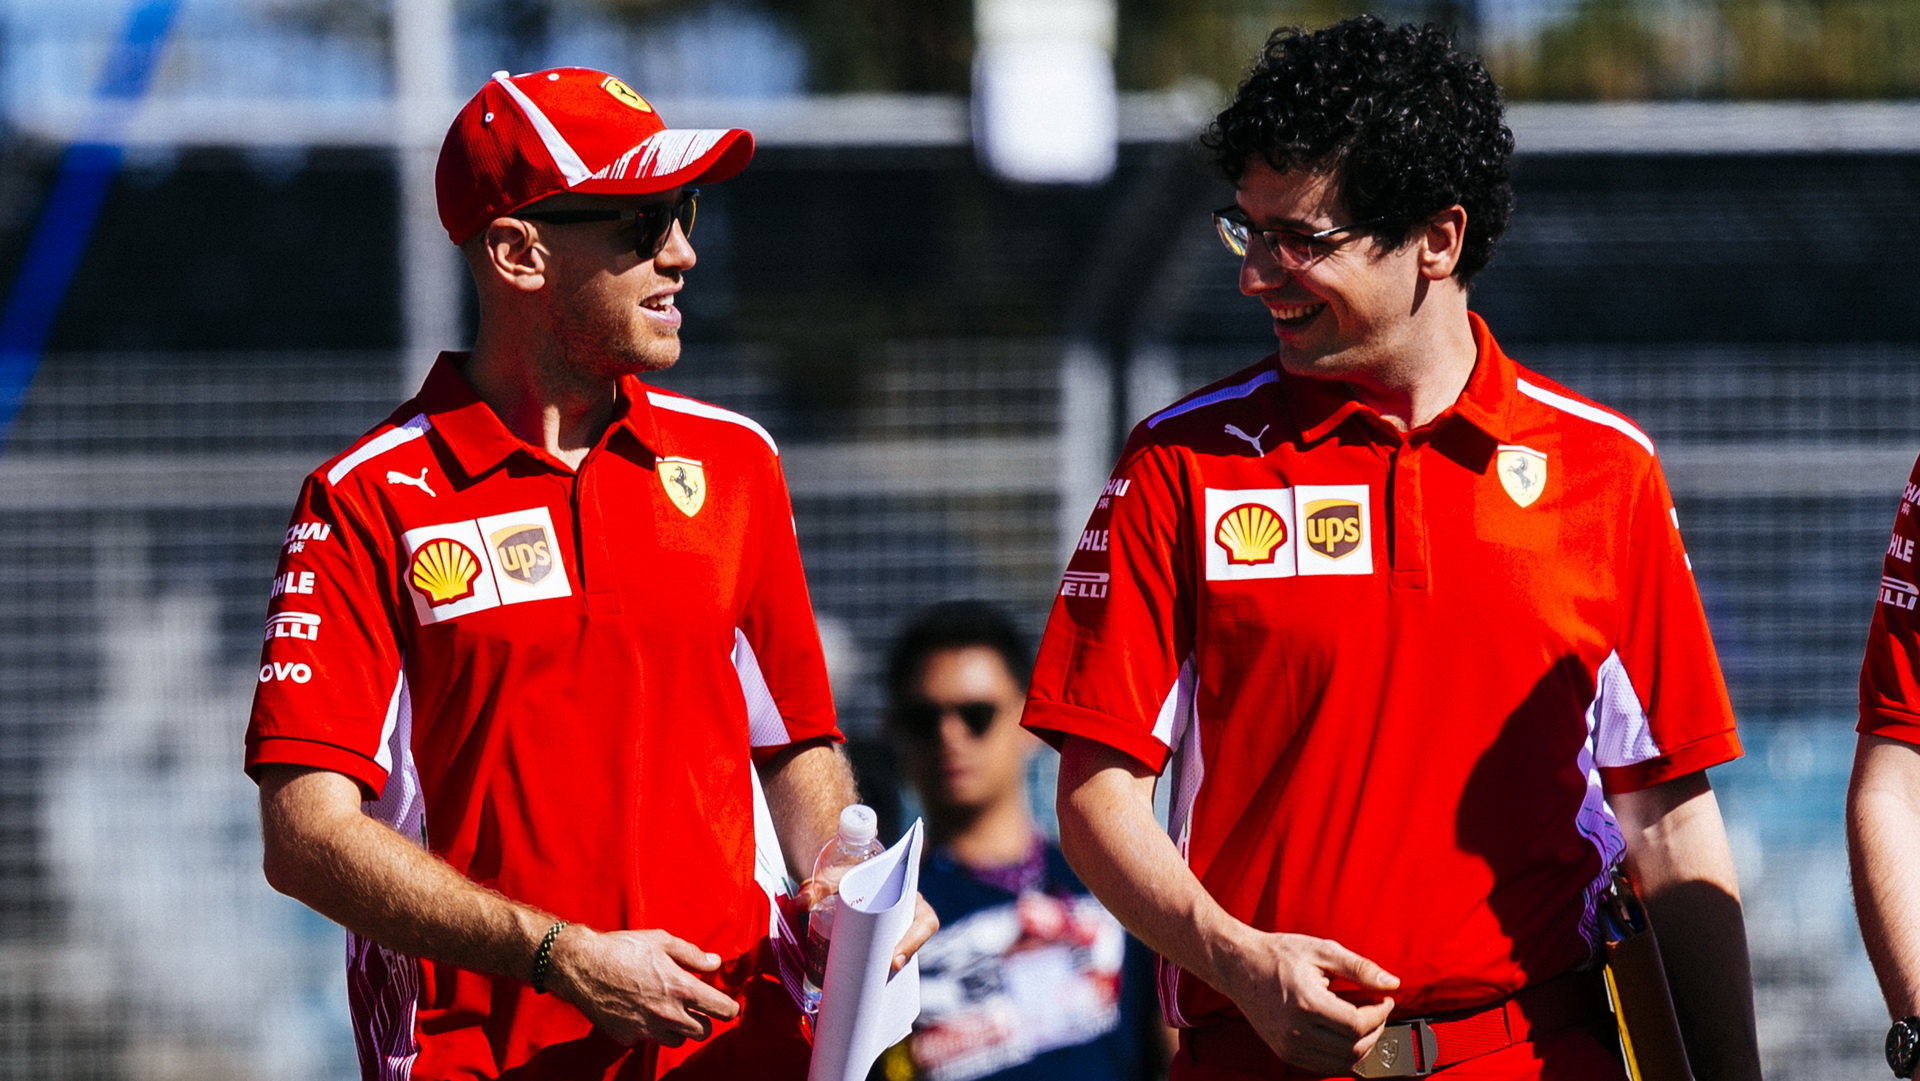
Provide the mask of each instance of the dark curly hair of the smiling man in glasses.
{"label": "dark curly hair of the smiling man in glasses", "polygon": [[1459,204],[1469,282],[1513,217],[1513,132],[1500,86],[1446,31],[1388,27],[1373,15],[1306,33],[1281,27],[1200,146],[1238,182],[1258,154],[1273,169],[1332,173],[1367,232],[1400,248],[1430,215]]}

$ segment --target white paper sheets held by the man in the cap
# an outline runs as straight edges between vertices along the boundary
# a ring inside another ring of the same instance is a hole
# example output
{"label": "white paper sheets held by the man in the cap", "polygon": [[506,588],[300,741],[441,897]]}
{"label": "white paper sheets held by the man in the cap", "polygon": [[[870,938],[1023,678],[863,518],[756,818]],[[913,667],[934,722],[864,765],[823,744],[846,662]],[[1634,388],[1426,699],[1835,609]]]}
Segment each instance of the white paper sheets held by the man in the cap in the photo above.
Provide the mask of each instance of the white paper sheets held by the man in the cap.
{"label": "white paper sheets held by the man in the cap", "polygon": [[925,826],[914,820],[899,845],[841,879],[806,1081],[864,1081],[879,1052],[914,1029],[920,958],[908,958],[897,973],[887,970],[914,924],[924,837]]}

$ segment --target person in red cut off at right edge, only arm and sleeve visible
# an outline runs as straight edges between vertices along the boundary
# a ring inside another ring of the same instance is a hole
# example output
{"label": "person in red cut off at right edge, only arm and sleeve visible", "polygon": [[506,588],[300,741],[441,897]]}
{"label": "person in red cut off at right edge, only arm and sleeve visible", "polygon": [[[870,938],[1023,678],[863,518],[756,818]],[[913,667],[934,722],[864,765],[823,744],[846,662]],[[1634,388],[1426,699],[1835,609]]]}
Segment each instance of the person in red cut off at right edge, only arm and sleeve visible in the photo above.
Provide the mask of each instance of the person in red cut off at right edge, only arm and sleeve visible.
{"label": "person in red cut off at right edge, only arm and sleeve visible", "polygon": [[1887,1000],[1887,1068],[1920,1066],[1920,463],[1893,515],[1880,603],[1860,664],[1860,743],[1847,789],[1853,901],[1866,956]]}

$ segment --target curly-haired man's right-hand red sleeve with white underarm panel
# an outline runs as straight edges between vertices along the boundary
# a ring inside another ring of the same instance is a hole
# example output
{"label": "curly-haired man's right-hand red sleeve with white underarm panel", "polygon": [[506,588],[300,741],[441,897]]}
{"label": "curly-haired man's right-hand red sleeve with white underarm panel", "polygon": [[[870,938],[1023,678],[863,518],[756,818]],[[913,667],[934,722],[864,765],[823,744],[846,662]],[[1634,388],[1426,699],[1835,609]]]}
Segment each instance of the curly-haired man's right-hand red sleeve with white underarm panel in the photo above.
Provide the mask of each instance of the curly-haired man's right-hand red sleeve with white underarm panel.
{"label": "curly-haired man's right-hand red sleeve with white underarm panel", "polygon": [[1590,710],[1594,758],[1609,793],[1740,757],[1720,659],[1655,459],[1638,482],[1622,574],[1620,632]]}

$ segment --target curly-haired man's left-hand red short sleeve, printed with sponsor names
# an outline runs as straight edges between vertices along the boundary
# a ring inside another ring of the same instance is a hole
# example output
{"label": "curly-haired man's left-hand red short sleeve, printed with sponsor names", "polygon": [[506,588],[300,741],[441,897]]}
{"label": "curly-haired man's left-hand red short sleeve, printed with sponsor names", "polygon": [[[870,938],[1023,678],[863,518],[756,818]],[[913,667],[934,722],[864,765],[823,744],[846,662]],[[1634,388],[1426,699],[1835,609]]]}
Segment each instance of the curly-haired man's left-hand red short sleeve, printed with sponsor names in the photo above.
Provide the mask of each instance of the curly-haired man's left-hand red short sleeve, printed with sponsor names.
{"label": "curly-haired man's left-hand red short sleeve, printed with sponsor names", "polygon": [[1179,451],[1140,432],[1100,492],[1054,595],[1021,724],[1162,770],[1192,653],[1190,493]]}

